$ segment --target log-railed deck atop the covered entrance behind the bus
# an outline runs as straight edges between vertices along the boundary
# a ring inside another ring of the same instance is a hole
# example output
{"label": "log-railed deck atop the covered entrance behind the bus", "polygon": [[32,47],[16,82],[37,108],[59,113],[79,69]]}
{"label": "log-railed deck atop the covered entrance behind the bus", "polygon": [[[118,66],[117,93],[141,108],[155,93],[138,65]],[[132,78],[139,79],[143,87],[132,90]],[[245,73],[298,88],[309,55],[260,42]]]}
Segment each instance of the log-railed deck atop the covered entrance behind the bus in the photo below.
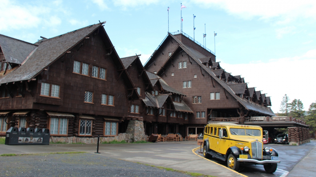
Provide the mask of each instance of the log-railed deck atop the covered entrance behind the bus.
{"label": "log-railed deck atop the covered entrance behind the bus", "polygon": [[230,122],[243,125],[258,125],[261,127],[305,127],[306,122],[292,117],[216,117],[209,118],[208,123]]}

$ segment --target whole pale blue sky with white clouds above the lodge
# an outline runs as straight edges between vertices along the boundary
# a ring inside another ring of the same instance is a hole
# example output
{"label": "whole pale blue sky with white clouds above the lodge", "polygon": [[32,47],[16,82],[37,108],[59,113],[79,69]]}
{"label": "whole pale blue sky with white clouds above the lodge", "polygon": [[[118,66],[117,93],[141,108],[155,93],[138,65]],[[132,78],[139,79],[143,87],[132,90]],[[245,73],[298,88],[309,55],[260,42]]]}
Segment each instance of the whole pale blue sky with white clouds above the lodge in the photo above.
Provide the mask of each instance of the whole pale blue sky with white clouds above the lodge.
{"label": "whole pale blue sky with white clouds above the lodge", "polygon": [[0,0],[0,33],[30,43],[100,21],[120,57],[142,54],[143,63],[168,31],[183,31],[203,44],[233,75],[271,96],[277,112],[284,94],[301,99],[305,110],[316,101],[316,3],[314,1],[228,0]]}

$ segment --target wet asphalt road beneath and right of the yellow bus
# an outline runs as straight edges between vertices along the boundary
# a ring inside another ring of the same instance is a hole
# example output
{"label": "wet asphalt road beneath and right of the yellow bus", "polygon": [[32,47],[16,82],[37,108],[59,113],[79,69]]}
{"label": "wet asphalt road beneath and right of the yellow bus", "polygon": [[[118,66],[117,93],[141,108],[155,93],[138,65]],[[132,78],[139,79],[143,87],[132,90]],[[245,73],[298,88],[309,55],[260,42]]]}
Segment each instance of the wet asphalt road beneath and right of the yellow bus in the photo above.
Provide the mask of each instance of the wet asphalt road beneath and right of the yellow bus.
{"label": "wet asphalt road beneath and right of the yellow bus", "polygon": [[[272,147],[276,149],[276,151],[279,153],[281,163],[278,163],[276,172],[273,174],[266,173],[263,165],[240,166],[240,170],[238,172],[249,177],[279,177],[284,173],[291,171],[293,167],[299,163],[315,146],[316,141],[311,141],[310,143],[305,143],[300,146],[275,144],[264,145],[264,147]],[[225,166],[227,165],[225,162],[215,158],[211,160]],[[304,170],[302,170],[302,173],[304,173]]]}

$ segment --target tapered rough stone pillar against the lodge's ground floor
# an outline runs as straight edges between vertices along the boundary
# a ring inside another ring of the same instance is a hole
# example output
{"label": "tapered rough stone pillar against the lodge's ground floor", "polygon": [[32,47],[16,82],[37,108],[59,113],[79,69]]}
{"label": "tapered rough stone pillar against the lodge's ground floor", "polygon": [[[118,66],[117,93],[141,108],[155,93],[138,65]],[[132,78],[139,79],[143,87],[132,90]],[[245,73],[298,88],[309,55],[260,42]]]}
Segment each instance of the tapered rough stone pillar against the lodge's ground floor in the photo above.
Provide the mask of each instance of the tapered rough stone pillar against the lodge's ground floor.
{"label": "tapered rough stone pillar against the lodge's ground floor", "polygon": [[126,129],[126,134],[130,135],[129,141],[132,142],[146,140],[143,121],[130,120]]}

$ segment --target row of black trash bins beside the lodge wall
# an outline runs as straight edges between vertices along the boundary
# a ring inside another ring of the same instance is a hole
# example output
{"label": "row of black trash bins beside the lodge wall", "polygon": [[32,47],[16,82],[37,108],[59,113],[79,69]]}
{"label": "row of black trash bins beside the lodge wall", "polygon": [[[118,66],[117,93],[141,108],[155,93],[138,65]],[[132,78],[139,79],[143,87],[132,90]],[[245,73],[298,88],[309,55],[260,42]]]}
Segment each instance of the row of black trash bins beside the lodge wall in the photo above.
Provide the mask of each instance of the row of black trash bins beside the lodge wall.
{"label": "row of black trash bins beside the lodge wall", "polygon": [[11,127],[6,132],[6,145],[49,145],[50,133],[46,128]]}

